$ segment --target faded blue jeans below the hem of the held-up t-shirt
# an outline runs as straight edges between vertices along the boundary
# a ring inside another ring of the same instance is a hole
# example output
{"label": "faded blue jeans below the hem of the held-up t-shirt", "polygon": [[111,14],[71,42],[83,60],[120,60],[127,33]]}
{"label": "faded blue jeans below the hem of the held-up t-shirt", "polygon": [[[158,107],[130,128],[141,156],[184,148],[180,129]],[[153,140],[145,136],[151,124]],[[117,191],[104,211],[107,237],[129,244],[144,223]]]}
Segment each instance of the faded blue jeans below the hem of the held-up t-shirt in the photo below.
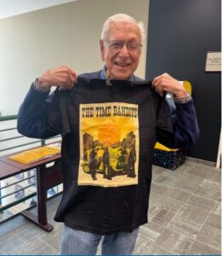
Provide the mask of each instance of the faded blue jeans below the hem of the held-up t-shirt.
{"label": "faded blue jeans below the hem of the held-up t-shirt", "polygon": [[107,236],[81,230],[73,230],[64,225],[61,241],[61,255],[94,255],[101,241],[102,254],[132,254],[138,229],[133,232],[118,232]]}

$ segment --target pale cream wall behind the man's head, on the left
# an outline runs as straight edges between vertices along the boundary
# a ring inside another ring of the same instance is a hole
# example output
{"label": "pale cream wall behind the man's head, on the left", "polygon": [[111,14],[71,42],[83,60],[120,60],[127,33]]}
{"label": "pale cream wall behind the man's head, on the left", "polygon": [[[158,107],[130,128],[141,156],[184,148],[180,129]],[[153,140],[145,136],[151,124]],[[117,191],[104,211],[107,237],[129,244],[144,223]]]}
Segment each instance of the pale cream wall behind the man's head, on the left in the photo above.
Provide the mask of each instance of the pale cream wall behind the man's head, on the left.
{"label": "pale cream wall behind the man's head, on the left", "polygon": [[[79,0],[0,20],[0,112],[18,112],[31,82],[43,71],[67,65],[77,73],[99,70],[105,19],[126,13],[145,23],[149,0]],[[136,72],[145,77],[146,42]]]}

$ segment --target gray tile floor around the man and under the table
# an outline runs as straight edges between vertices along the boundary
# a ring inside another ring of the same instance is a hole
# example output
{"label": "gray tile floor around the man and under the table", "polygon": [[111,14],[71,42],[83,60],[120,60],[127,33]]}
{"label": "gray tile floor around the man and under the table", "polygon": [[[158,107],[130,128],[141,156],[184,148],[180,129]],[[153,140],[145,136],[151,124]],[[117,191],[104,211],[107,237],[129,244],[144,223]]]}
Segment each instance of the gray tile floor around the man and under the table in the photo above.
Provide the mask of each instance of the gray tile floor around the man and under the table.
{"label": "gray tile floor around the man and under the table", "polygon": [[[48,201],[50,233],[22,216],[0,224],[0,254],[59,254],[59,201]],[[153,166],[149,224],[140,228],[134,254],[221,255],[221,170],[192,161],[175,171]]]}

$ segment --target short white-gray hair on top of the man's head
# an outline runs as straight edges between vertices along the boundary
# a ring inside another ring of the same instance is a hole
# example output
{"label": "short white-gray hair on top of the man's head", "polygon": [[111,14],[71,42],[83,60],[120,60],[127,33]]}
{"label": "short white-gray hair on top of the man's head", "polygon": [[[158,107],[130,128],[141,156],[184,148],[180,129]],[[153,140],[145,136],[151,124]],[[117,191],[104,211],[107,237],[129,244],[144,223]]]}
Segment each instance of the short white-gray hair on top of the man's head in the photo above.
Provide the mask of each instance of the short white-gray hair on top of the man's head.
{"label": "short white-gray hair on top of the man's head", "polygon": [[143,44],[144,39],[145,39],[144,23],[142,21],[137,22],[133,17],[131,17],[129,15],[124,15],[124,14],[112,15],[107,20],[105,20],[105,23],[104,23],[103,29],[102,29],[102,33],[101,33],[101,40],[105,40],[107,38],[109,28],[112,23],[121,22],[121,21],[133,23],[139,28],[140,44]]}

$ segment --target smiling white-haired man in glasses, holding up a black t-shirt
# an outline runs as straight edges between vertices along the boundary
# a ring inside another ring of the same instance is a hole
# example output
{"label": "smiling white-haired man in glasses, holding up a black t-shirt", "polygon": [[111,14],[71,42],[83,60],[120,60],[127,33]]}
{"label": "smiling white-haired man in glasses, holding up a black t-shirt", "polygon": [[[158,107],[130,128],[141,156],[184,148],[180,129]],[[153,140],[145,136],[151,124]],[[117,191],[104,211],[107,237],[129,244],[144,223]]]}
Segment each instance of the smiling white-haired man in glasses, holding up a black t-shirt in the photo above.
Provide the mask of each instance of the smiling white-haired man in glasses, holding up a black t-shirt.
{"label": "smiling white-haired man in glasses, holding up a black t-shirt", "polygon": [[[31,84],[20,107],[20,133],[62,136],[64,192],[54,218],[65,224],[62,254],[94,254],[101,240],[103,254],[132,253],[147,222],[154,144],[188,147],[198,138],[191,96],[178,80],[167,73],[151,82],[134,76],[144,38],[134,18],[111,16],[100,39],[105,67],[78,77],[69,67],[50,69]],[[58,88],[49,95],[53,85]],[[171,111],[165,92],[174,95]],[[130,148],[133,176],[127,175]],[[94,179],[87,157],[92,149]],[[106,168],[100,165],[104,154]]]}

